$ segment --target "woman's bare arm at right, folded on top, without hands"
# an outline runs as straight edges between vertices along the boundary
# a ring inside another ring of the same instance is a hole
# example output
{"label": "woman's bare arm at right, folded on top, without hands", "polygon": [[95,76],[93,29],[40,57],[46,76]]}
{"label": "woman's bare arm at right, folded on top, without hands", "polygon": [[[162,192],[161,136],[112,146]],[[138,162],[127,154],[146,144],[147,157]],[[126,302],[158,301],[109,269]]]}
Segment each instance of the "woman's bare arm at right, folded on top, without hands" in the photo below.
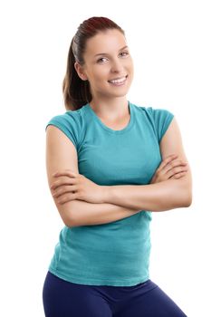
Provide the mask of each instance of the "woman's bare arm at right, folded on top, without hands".
{"label": "woman's bare arm at right, folded on top, without hands", "polygon": [[[171,121],[159,143],[159,148],[162,159],[170,154],[177,154],[178,159],[187,161],[176,118]],[[189,207],[192,203],[191,170],[187,164],[187,173],[182,178],[169,178],[149,185],[106,186],[103,193],[103,201],[106,203],[140,210],[162,211]]]}

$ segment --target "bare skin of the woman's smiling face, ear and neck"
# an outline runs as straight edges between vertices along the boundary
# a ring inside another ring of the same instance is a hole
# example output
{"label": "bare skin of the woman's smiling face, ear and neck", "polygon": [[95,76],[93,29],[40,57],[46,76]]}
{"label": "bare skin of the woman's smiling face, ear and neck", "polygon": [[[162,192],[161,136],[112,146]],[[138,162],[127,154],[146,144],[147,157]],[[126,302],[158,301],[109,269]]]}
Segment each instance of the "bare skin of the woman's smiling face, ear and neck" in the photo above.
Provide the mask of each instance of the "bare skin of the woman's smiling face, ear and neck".
{"label": "bare skin of the woman's smiling face, ear and neck", "polygon": [[[106,54],[95,56],[100,53]],[[101,120],[118,128],[129,120],[126,95],[133,80],[133,61],[124,35],[115,29],[96,34],[87,41],[83,57],[84,65],[75,62],[75,69],[82,81],[90,82],[91,108]],[[123,86],[108,82],[125,75]]]}

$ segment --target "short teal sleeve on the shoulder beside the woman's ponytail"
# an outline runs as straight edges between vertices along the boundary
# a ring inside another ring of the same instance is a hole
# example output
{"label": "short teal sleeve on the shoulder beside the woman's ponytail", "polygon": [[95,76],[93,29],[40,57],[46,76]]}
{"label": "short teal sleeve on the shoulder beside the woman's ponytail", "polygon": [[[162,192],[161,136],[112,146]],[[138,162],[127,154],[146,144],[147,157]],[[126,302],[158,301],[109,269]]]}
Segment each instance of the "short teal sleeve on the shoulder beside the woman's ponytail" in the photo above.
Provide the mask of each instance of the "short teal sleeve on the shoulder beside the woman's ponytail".
{"label": "short teal sleeve on the shoulder beside the woman's ponytail", "polygon": [[62,130],[62,132],[72,140],[75,148],[78,148],[80,131],[77,114],[72,113],[72,111],[67,111],[63,114],[54,116],[48,121],[45,131],[49,125],[53,125]]}

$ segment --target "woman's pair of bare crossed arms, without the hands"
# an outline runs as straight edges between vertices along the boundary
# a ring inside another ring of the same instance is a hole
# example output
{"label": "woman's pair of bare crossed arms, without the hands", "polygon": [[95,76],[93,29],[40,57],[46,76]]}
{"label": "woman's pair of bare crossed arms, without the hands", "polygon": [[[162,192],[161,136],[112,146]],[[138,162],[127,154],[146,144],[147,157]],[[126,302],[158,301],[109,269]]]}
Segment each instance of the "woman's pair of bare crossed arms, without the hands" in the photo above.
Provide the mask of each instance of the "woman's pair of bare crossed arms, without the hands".
{"label": "woman's pair of bare crossed arms, without the hands", "polygon": [[[159,144],[162,159],[177,154],[178,159],[187,161],[182,146],[180,131],[174,118]],[[51,127],[47,131],[46,167],[49,186],[53,172],[72,169],[78,173],[77,152],[70,139],[62,131]],[[66,226],[99,225],[132,216],[141,210],[164,211],[177,207],[189,207],[192,202],[192,177],[187,164],[183,178],[169,178],[156,184],[124,185],[103,187],[101,204],[72,200],[56,207]]]}

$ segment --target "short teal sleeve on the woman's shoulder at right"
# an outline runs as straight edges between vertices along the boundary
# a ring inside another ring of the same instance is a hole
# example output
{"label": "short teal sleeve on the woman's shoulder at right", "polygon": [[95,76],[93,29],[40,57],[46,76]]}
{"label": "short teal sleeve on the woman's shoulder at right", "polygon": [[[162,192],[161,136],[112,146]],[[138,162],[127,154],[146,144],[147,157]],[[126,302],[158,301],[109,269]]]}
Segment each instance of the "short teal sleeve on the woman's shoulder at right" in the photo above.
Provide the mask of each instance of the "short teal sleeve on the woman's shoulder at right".
{"label": "short teal sleeve on the woman's shoulder at right", "polygon": [[174,118],[174,114],[167,109],[153,109],[152,107],[152,116],[155,124],[155,129],[158,135],[158,142],[163,138],[165,132],[168,130],[170,122]]}

